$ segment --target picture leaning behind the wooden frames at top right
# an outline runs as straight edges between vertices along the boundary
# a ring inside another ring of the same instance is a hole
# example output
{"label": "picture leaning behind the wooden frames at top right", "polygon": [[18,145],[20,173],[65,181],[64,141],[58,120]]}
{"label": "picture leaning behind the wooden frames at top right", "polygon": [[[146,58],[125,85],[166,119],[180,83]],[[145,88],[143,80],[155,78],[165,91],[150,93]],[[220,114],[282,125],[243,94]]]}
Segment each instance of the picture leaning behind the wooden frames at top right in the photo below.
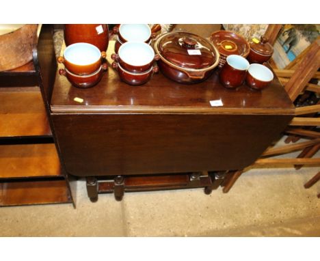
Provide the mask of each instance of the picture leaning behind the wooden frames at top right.
{"label": "picture leaning behind the wooden frames at top right", "polygon": [[319,37],[319,31],[320,25],[284,25],[274,44],[274,64],[285,69]]}

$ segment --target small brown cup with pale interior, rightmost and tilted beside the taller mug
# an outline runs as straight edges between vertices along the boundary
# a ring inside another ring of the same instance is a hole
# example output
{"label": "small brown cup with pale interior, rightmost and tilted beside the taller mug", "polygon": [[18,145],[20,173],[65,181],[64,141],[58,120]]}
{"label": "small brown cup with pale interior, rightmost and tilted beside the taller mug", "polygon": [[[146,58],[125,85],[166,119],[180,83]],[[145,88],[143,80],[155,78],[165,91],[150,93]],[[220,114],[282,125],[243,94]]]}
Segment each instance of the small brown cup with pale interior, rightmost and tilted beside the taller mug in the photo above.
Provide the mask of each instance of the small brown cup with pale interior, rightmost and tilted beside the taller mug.
{"label": "small brown cup with pale interior, rightmost and tilted beside the taller mug", "polygon": [[274,73],[262,64],[251,64],[245,82],[254,90],[263,90],[274,79]]}

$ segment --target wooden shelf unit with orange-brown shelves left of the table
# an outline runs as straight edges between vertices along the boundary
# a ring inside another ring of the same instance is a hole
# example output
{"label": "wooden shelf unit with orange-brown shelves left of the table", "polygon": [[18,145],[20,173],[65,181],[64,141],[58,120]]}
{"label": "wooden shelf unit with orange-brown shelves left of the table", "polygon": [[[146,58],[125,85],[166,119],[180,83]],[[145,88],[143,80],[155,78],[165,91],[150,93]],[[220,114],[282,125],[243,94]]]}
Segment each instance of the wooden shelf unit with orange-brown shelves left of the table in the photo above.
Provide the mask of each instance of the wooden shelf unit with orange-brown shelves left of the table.
{"label": "wooden shelf unit with orange-brown shelves left of the table", "polygon": [[0,206],[74,204],[41,90],[38,44],[28,64],[0,72]]}

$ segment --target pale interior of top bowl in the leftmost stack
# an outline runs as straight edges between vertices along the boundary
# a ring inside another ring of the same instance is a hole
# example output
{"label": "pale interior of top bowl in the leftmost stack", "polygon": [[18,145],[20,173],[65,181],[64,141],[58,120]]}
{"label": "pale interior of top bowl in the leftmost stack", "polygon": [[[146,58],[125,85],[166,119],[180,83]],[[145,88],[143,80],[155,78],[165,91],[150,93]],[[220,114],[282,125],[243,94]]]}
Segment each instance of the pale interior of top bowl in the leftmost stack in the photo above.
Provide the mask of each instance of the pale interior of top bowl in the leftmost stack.
{"label": "pale interior of top bowl in the leftmost stack", "polygon": [[94,64],[98,59],[101,59],[101,51],[92,44],[78,42],[70,44],[64,50],[64,59],[77,65]]}

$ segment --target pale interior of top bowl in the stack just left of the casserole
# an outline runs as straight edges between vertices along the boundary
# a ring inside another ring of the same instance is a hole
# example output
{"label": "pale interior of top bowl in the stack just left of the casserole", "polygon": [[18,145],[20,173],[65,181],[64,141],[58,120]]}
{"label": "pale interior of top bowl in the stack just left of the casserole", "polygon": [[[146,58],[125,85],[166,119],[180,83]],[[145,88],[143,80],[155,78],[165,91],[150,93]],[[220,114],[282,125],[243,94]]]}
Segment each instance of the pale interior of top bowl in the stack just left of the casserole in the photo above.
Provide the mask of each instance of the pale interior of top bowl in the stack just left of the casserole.
{"label": "pale interior of top bowl in the stack just left of the casserole", "polygon": [[155,58],[155,51],[145,42],[126,42],[119,48],[122,61],[132,66],[144,66]]}

